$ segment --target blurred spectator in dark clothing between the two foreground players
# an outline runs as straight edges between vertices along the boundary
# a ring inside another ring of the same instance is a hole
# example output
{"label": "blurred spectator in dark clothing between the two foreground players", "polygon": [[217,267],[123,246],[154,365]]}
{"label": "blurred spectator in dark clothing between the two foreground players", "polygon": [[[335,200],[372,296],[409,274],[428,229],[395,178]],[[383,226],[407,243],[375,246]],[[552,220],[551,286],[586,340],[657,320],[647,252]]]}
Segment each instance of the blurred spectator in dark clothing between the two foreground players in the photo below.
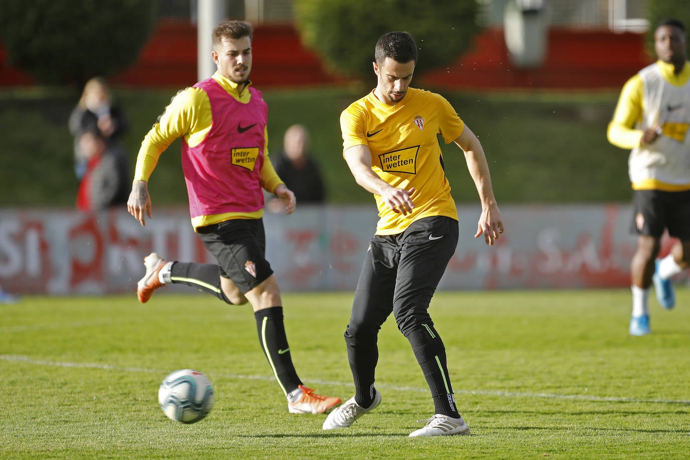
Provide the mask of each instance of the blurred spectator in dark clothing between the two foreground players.
{"label": "blurred spectator in dark clothing between the two foreground players", "polygon": [[[272,163],[278,177],[295,193],[298,203],[324,202],[324,180],[319,166],[309,153],[309,133],[304,126],[293,125],[285,131],[283,150]],[[273,212],[279,212],[282,203],[273,197],[268,207]]]}

